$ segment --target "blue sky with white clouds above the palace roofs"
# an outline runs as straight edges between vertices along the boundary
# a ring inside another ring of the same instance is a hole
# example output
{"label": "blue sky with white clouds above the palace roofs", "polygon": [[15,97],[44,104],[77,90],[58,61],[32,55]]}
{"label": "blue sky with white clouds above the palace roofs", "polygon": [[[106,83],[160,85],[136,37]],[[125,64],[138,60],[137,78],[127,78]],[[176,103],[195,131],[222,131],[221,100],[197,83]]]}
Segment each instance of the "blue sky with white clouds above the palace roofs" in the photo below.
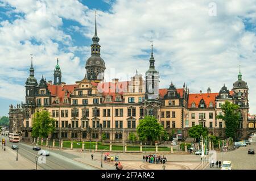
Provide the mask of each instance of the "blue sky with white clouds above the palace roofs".
{"label": "blue sky with white clouds above the palace roofs", "polygon": [[144,75],[152,40],[161,88],[231,90],[241,64],[256,113],[255,0],[0,0],[0,116],[24,102],[30,54],[38,82],[57,58],[64,82],[84,78],[95,11],[106,81]]}

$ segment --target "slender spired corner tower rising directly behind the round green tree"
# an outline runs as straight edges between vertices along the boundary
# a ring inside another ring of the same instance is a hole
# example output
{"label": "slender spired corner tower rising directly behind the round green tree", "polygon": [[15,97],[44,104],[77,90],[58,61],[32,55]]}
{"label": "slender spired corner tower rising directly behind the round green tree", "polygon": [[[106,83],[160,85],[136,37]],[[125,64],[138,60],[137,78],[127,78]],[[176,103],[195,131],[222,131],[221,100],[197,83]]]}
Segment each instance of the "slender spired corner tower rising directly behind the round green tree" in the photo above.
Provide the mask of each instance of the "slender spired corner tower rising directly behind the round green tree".
{"label": "slender spired corner tower rising directly behind the round green tree", "polygon": [[[151,41],[152,42],[152,41]],[[151,44],[150,68],[146,71],[146,92],[144,98],[145,115],[155,116],[158,119],[159,100],[159,72],[155,70],[153,44]]]}

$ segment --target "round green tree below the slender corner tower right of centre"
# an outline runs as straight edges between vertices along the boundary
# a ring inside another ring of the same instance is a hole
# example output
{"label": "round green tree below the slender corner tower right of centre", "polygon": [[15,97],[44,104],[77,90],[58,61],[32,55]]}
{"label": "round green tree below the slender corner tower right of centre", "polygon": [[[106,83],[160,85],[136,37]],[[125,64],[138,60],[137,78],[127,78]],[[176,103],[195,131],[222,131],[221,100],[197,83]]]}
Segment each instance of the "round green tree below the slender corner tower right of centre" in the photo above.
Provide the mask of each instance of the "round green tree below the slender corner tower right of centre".
{"label": "round green tree below the slender corner tower right of centre", "polygon": [[145,116],[144,119],[139,121],[137,127],[137,134],[140,140],[152,141],[158,140],[161,133],[163,133],[163,126],[158,123],[158,120],[154,116]]}

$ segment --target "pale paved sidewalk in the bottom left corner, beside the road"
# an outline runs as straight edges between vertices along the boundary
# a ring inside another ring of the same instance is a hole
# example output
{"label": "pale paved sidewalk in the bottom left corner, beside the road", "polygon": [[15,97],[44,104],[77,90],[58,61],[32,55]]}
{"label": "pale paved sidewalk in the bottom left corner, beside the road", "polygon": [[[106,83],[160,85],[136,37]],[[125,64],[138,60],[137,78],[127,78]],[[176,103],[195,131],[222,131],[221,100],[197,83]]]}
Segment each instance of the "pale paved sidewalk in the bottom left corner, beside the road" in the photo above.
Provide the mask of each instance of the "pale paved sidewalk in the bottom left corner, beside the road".
{"label": "pale paved sidewalk in the bottom left corner, beside the road", "polygon": [[18,151],[18,161],[16,161],[16,150],[12,150],[6,146],[3,151],[0,145],[0,169],[1,170],[33,170],[35,164],[23,158]]}

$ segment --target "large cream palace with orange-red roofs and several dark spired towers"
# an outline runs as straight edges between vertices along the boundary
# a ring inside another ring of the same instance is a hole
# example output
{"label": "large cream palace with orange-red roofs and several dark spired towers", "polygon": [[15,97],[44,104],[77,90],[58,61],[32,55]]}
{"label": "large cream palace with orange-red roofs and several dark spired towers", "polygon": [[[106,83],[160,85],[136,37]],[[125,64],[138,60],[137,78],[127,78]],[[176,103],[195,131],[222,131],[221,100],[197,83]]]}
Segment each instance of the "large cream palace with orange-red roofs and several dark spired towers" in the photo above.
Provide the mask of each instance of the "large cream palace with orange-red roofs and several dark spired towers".
{"label": "large cream palace with orange-red roofs and several dark spired towers", "polygon": [[[155,116],[168,134],[188,136],[188,129],[202,124],[211,134],[225,136],[225,121],[217,119],[222,113],[221,104],[226,100],[240,106],[240,128],[238,136],[247,137],[256,128],[255,121],[248,121],[248,86],[242,80],[241,71],[233,89],[225,85],[220,92],[189,93],[184,85],[176,88],[171,82],[167,89],[159,89],[159,72],[155,69],[155,58],[151,47],[149,68],[145,77],[135,75],[128,81],[104,82],[106,65],[101,58],[100,38],[92,37],[91,56],[86,60],[86,74],[73,85],[62,80],[61,66],[53,72],[53,82],[42,76],[39,83],[34,76],[31,57],[30,75],[25,83],[26,101],[22,105],[10,106],[10,132],[20,133],[23,139],[31,138],[32,117],[38,110],[47,110],[55,119],[56,131],[50,137],[63,140],[126,141],[130,133],[136,133],[139,120],[146,115]],[[152,46],[152,45],[151,45]]]}

